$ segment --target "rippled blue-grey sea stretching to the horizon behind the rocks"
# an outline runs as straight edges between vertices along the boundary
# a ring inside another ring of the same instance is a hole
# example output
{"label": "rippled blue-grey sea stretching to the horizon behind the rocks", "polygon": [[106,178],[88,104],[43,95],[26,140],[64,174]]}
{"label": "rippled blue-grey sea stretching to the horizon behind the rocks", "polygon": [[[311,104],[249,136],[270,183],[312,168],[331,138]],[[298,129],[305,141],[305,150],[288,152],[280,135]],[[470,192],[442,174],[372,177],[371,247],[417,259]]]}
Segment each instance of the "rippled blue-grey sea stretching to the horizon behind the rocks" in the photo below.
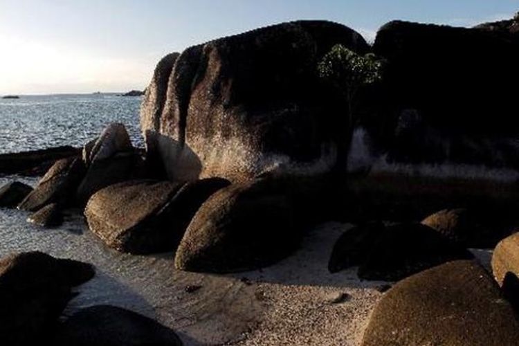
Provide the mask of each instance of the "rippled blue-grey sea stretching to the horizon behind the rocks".
{"label": "rippled blue-grey sea stretching to the horizon behind the rocks", "polygon": [[134,145],[141,98],[100,95],[28,95],[0,99],[0,154],[59,145],[80,147],[110,122],[126,125]]}

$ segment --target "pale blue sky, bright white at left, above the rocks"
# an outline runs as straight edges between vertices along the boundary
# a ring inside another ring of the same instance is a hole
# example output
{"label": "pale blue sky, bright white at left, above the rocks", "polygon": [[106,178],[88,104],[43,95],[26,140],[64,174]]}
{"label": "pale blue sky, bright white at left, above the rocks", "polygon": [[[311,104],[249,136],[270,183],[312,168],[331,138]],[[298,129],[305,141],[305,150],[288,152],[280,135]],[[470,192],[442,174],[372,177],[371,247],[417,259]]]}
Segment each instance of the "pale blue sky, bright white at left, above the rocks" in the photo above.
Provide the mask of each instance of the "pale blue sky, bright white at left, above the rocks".
{"label": "pale blue sky, bright white at left, above the rocks", "polygon": [[167,53],[296,19],[372,41],[393,19],[453,26],[509,19],[519,0],[0,0],[0,95],[144,89]]}

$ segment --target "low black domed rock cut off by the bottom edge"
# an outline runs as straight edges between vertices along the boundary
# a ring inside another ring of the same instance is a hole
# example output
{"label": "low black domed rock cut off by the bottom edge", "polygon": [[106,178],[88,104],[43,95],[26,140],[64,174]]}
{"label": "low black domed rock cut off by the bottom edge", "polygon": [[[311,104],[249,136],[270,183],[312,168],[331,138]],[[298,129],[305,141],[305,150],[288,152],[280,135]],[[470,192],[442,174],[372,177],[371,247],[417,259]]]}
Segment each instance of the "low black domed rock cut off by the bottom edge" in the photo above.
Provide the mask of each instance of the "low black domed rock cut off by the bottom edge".
{"label": "low black domed rock cut off by the bottom edge", "polygon": [[181,346],[178,336],[133,311],[98,305],[75,313],[60,327],[54,345]]}

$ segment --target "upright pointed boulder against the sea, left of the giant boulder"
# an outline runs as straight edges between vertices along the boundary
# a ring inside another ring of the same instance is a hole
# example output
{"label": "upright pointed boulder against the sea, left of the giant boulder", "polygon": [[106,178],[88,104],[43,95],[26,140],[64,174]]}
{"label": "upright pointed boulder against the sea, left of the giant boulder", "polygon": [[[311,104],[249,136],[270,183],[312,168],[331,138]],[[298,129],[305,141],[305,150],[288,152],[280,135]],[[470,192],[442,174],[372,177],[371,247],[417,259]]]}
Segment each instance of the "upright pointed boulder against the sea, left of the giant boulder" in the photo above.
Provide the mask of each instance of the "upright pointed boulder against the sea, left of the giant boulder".
{"label": "upright pointed boulder against the sea, left of the giant boulder", "polygon": [[125,126],[120,123],[108,125],[94,144],[87,143],[83,156],[89,166],[78,186],[80,206],[86,205],[89,198],[102,188],[129,180],[140,161]]}

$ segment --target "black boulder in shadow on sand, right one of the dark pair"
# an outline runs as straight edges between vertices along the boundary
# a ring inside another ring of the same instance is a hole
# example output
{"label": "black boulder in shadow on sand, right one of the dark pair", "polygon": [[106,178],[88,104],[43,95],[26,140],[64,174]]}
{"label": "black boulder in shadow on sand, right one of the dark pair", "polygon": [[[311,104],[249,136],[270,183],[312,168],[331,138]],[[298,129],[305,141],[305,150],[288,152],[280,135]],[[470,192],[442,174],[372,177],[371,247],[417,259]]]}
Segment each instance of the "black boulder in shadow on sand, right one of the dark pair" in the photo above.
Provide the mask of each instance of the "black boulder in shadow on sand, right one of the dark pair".
{"label": "black boulder in shadow on sand, right one of the dark pair", "polygon": [[472,259],[463,246],[421,224],[390,226],[381,233],[358,268],[365,280],[398,281],[433,266]]}

